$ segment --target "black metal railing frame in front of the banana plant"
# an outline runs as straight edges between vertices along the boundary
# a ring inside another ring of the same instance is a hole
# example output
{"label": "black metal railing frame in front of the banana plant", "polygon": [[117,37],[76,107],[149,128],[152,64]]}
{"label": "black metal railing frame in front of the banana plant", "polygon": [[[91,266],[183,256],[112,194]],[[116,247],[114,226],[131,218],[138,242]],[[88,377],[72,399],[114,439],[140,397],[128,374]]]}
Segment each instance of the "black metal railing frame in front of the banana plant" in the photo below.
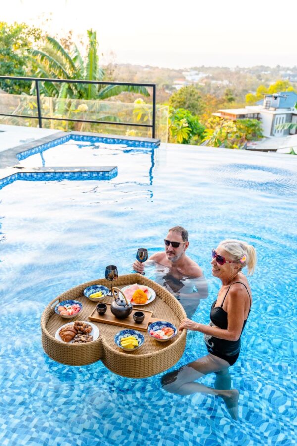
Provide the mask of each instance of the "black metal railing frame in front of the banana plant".
{"label": "black metal railing frame in front of the banana plant", "polygon": [[[31,118],[38,119],[39,127],[42,128],[43,120],[52,121],[70,121],[70,122],[88,122],[93,124],[110,124],[110,125],[126,125],[127,127],[147,127],[152,130],[152,138],[156,135],[156,84],[145,84],[145,83],[133,83],[133,82],[105,82],[105,81],[88,81],[83,79],[48,79],[48,78],[36,78],[36,77],[16,77],[16,76],[0,76],[1,79],[10,80],[22,80],[35,82],[36,87],[36,98],[37,98],[37,116],[30,116],[24,114],[7,114],[0,113],[0,116],[11,116],[19,118]],[[137,124],[130,122],[117,122],[117,121],[99,121],[90,119],[70,119],[70,118],[56,118],[51,116],[42,116],[41,104],[40,104],[40,92],[39,92],[39,82],[57,82],[57,83],[69,83],[69,84],[94,84],[94,85],[127,85],[127,86],[137,86],[137,87],[149,87],[152,88],[152,123],[151,124]],[[1,99],[1,96],[0,96]]]}

